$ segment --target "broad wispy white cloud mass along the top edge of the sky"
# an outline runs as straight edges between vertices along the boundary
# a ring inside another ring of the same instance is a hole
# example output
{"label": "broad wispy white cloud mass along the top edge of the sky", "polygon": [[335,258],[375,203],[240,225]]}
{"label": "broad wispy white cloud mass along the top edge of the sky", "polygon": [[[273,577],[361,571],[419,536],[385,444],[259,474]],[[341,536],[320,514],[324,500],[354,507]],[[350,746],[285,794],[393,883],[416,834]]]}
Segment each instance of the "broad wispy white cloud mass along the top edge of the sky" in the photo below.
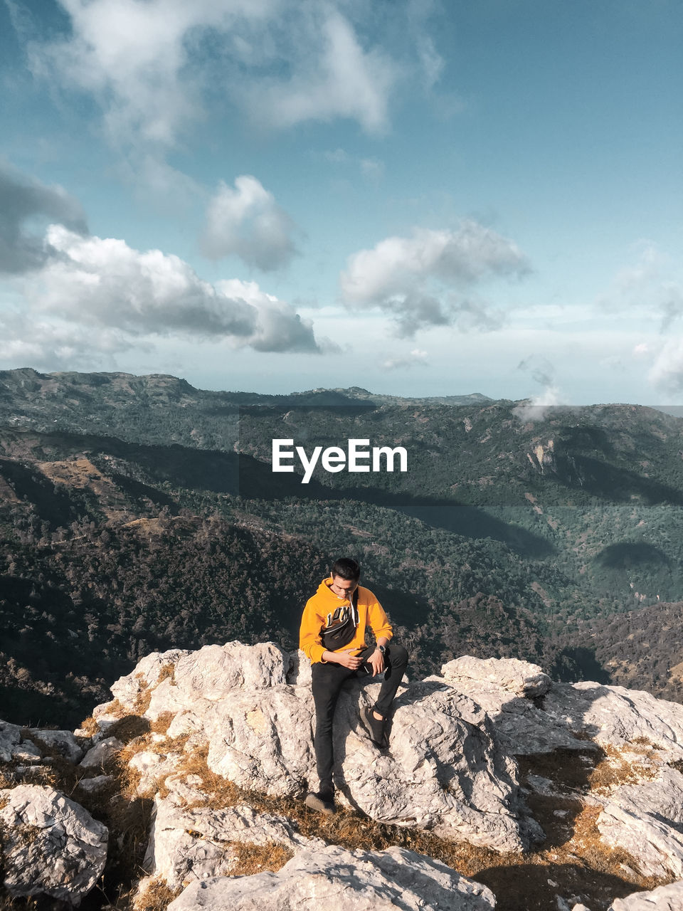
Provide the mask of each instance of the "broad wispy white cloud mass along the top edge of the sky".
{"label": "broad wispy white cloud mass along the top edge of the sky", "polygon": [[[209,96],[236,102],[267,127],[333,118],[369,132],[387,127],[402,67],[364,46],[332,3],[59,2],[72,34],[28,42],[34,72],[96,97],[118,148],[175,145],[208,116]],[[369,17],[362,6],[354,13]]]}

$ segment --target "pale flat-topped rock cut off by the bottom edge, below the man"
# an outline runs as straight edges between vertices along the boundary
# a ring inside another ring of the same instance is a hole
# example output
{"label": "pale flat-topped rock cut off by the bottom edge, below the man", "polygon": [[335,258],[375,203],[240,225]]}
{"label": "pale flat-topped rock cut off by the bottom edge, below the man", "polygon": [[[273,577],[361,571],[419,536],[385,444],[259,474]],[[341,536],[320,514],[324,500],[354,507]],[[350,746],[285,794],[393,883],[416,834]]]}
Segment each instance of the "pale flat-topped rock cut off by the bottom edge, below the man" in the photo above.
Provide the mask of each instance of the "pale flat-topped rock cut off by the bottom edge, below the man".
{"label": "pale flat-topped rock cut off by the bottom edge, below the man", "polygon": [[189,885],[168,911],[490,911],[493,894],[431,857],[403,848],[303,850],[278,873],[214,877]]}

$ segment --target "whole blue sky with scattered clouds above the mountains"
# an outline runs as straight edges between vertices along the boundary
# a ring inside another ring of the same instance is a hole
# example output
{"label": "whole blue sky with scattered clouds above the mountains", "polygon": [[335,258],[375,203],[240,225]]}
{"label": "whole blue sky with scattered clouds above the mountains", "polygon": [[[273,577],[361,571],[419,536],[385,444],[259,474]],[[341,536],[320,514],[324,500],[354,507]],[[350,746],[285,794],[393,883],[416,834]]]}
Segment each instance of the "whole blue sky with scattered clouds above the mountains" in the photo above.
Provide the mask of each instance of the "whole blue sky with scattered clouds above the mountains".
{"label": "whole blue sky with scattered clouds above the mountains", "polygon": [[0,0],[0,366],[679,404],[674,0]]}

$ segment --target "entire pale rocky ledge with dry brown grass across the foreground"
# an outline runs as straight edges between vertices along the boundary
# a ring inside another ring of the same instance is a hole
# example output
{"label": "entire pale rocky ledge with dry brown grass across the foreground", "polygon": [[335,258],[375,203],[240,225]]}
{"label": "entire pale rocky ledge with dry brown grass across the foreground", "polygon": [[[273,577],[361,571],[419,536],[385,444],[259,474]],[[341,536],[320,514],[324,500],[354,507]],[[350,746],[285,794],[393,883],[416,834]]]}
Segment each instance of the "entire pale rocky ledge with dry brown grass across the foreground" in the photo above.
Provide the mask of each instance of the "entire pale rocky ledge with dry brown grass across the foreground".
{"label": "entire pale rocky ledge with dry brown grass across the foreground", "polygon": [[[338,704],[337,829],[301,805],[310,664],[272,643],[148,655],[73,733],[0,722],[7,894],[78,904],[125,798],[151,811],[139,908],[513,907],[504,869],[530,890],[545,871],[529,908],[683,907],[683,706],[464,657],[404,681],[379,751],[360,721],[379,686],[352,681]],[[108,837],[118,868],[125,841]]]}

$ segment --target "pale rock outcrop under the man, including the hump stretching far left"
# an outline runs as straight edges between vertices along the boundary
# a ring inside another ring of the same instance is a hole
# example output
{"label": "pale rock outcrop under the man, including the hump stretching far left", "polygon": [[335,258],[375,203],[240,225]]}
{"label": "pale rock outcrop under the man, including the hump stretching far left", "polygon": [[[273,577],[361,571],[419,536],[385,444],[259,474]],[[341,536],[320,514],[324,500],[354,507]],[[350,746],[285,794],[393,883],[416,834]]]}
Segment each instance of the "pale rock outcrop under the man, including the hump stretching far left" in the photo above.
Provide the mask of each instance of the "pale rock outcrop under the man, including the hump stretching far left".
{"label": "pale rock outcrop under the man, including the hump stretching far left", "polygon": [[[301,796],[317,788],[310,666],[268,643],[150,655],[117,681],[123,711],[147,691],[150,722],[209,744],[209,768],[242,788]],[[486,713],[442,680],[412,683],[395,702],[391,746],[380,752],[360,717],[380,684],[350,682],[335,715],[340,800],[384,823],[417,826],[498,851],[519,851],[537,827],[525,816],[515,761]],[[107,705],[96,711],[107,721]],[[104,744],[100,744],[100,747]],[[97,748],[99,749],[99,747]]]}

